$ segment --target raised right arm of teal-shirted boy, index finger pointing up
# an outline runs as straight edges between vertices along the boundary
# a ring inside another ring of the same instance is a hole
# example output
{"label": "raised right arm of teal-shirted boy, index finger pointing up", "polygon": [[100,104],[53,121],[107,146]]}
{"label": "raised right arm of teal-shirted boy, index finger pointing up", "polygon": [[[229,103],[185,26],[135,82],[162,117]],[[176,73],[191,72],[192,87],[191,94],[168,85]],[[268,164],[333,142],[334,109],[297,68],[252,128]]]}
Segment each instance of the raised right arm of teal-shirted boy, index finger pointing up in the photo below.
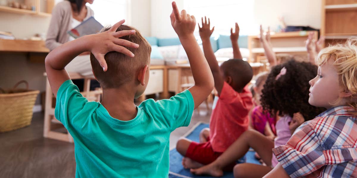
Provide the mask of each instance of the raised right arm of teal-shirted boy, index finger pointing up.
{"label": "raised right arm of teal-shirted boy, index finger pointing up", "polygon": [[194,16],[190,16],[185,10],[182,10],[180,14],[176,2],[172,2],[170,19],[171,25],[177,33],[183,49],[186,51],[188,61],[190,61],[195,85],[188,88],[188,90],[191,92],[195,108],[197,108],[212,92],[214,81],[205,56],[203,56],[200,46],[198,46],[196,38],[193,35],[196,20]]}

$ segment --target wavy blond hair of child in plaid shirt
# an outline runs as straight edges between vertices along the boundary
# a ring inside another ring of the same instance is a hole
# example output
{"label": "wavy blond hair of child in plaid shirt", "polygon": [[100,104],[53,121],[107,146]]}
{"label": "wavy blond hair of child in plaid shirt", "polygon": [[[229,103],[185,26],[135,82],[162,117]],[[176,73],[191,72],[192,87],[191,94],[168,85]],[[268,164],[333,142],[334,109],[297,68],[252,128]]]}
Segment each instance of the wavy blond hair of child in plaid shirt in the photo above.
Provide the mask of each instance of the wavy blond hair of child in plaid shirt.
{"label": "wavy blond hair of child in plaid shirt", "polygon": [[[338,83],[344,90],[351,92],[351,103],[355,111],[357,110],[357,37],[350,37],[345,44],[338,44],[322,49],[315,62],[318,66],[325,64],[328,60],[333,60],[338,74]],[[338,98],[335,103],[341,101]]]}

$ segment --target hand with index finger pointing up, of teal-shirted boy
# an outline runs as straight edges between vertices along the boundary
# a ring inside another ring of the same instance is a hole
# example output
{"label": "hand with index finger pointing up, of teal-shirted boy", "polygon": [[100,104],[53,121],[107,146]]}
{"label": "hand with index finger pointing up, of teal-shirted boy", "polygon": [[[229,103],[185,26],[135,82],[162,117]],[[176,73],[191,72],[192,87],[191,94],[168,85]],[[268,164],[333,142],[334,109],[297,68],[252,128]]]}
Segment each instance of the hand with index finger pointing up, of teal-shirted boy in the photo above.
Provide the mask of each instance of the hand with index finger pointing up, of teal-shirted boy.
{"label": "hand with index finger pointing up, of teal-shirted boy", "polygon": [[193,31],[195,31],[196,26],[195,17],[187,14],[186,10],[182,10],[180,14],[175,1],[172,2],[172,13],[170,15],[170,19],[171,25],[179,38],[185,38],[193,35]]}

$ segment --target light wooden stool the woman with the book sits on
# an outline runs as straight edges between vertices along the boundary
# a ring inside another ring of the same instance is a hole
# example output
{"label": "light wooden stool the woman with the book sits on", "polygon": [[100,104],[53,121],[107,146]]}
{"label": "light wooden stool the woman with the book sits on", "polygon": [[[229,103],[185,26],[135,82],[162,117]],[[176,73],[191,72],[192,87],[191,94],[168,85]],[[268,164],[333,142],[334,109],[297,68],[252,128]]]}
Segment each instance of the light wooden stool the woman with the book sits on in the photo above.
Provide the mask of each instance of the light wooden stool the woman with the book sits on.
{"label": "light wooden stool the woman with the book sits on", "polygon": [[[102,90],[99,88],[94,91],[90,91],[90,81],[94,78],[81,76],[79,73],[69,73],[71,79],[84,79],[83,92],[81,94],[88,99],[88,101],[100,101]],[[68,133],[62,133],[54,131],[54,129],[61,128],[61,122],[55,118],[54,108],[54,95],[51,90],[50,83],[48,81],[46,72],[46,97],[45,97],[45,118],[44,118],[44,137],[56,139],[60,141],[73,143],[72,136]],[[52,125],[52,123],[57,123]]]}

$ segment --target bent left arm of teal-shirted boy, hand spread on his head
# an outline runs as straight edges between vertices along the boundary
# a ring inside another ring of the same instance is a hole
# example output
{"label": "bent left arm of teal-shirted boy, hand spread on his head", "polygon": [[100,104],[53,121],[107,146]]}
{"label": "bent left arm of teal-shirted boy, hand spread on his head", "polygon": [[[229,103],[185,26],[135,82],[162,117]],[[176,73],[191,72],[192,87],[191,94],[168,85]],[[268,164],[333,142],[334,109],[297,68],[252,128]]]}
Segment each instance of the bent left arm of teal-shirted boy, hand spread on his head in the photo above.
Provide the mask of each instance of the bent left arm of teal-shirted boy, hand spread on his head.
{"label": "bent left arm of teal-shirted boy, hand spread on his head", "polygon": [[126,30],[115,32],[116,29],[125,22],[121,20],[111,27],[110,30],[100,34],[86,35],[76,40],[67,42],[51,51],[45,59],[47,78],[49,80],[52,92],[57,96],[57,91],[62,83],[70,80],[65,70],[65,66],[82,52],[91,51],[99,61],[103,70],[107,70],[104,55],[110,51],[117,51],[128,56],[134,57],[134,54],[123,46],[139,47],[127,40],[118,39],[121,36],[134,34],[135,30]]}

